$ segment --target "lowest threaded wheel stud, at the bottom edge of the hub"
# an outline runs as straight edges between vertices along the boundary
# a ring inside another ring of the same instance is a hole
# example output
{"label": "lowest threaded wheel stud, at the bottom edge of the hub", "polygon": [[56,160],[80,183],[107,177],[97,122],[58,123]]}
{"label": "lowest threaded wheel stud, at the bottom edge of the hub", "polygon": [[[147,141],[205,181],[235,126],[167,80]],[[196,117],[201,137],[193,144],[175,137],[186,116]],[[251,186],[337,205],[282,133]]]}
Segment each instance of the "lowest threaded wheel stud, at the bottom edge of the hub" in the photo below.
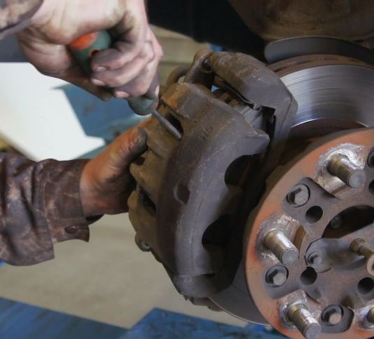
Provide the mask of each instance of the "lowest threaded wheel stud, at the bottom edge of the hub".
{"label": "lowest threaded wheel stud, at the bottom edge of the hub", "polygon": [[287,317],[305,338],[316,339],[321,334],[321,325],[304,304],[291,306],[287,311]]}

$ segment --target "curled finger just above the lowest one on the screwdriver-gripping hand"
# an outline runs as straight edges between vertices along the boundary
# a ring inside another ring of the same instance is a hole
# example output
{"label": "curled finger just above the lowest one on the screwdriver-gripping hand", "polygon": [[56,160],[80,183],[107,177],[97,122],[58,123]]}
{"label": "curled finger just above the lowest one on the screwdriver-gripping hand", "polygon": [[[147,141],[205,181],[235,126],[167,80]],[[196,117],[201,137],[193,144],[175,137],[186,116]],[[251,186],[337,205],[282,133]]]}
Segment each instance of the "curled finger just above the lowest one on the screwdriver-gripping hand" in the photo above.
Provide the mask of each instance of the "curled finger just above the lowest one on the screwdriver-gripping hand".
{"label": "curled finger just above the lowest one on the screwdriver-gripping hand", "polygon": [[92,74],[92,84],[97,86],[119,87],[132,81],[149,62],[155,59],[152,44],[146,44],[140,55],[119,69],[102,70]]}

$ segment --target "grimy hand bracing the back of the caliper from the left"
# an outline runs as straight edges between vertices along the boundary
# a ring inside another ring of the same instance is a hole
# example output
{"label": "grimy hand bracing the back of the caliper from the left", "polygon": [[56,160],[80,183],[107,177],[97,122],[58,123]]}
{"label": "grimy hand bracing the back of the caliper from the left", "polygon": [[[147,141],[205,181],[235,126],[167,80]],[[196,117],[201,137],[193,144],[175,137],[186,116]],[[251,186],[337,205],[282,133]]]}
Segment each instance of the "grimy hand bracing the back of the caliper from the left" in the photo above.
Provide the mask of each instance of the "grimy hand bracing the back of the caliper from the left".
{"label": "grimy hand bracing the back of the caliper from the left", "polygon": [[123,133],[83,168],[80,191],[86,217],[128,211],[127,199],[134,188],[130,162],[146,149],[148,121]]}

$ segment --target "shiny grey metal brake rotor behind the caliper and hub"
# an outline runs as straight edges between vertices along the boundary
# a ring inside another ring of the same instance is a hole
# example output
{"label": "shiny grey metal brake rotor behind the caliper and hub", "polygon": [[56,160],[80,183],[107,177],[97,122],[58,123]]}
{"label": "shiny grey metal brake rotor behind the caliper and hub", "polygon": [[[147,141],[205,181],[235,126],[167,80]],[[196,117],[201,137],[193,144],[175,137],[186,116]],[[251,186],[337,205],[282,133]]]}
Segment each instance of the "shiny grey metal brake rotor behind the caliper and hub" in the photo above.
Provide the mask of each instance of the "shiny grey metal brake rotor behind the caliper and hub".
{"label": "shiny grey metal brake rotor behind the caliper and hub", "polygon": [[[374,126],[374,69],[336,55],[307,55],[270,65],[298,102],[289,144],[335,131]],[[289,149],[287,160],[300,152]],[[283,161],[286,162],[286,161]],[[249,295],[239,268],[233,284],[210,299],[222,310],[245,321],[267,324]]]}

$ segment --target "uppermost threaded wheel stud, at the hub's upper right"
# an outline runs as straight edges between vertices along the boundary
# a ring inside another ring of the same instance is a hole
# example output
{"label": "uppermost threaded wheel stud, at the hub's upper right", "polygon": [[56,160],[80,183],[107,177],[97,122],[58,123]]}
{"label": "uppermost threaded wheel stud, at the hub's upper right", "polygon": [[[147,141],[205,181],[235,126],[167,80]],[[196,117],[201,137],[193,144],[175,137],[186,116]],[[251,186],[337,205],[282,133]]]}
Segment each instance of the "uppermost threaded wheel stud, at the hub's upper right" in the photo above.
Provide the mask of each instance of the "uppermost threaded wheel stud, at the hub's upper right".
{"label": "uppermost threaded wheel stud, at the hub's upper right", "polygon": [[358,188],[366,182],[365,171],[353,164],[345,155],[333,156],[327,168],[328,172],[338,177],[349,187]]}

